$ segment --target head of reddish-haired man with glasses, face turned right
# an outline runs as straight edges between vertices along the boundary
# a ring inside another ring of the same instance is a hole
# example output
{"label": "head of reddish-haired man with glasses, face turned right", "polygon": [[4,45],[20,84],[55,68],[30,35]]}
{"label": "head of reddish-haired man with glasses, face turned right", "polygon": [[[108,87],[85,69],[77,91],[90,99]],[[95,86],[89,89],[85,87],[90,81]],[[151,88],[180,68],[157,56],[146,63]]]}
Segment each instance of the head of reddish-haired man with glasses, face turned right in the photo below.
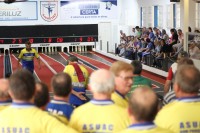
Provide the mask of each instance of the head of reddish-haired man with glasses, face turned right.
{"label": "head of reddish-haired man with glasses, face turned right", "polygon": [[126,95],[133,84],[133,67],[123,61],[114,62],[110,71],[115,75],[115,89],[122,95]]}

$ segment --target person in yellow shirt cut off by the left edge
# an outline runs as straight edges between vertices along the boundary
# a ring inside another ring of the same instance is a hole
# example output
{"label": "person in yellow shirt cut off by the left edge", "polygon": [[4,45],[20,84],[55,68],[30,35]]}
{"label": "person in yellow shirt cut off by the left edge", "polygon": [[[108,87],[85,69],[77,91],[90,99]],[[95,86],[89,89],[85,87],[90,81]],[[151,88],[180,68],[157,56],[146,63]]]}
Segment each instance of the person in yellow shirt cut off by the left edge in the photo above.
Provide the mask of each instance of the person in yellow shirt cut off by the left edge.
{"label": "person in yellow shirt cut off by the left edge", "polygon": [[8,93],[8,79],[0,79],[0,111],[8,107],[11,103],[11,97]]}

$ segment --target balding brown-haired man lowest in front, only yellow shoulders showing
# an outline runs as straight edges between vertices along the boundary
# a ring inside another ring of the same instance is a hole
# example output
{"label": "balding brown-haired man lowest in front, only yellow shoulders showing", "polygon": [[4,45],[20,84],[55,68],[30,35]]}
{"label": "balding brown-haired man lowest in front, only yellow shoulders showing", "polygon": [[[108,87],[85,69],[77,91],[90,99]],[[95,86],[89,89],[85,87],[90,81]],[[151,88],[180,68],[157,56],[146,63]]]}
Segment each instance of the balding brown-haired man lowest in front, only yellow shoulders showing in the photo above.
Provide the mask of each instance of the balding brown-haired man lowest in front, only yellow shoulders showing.
{"label": "balding brown-haired man lowest in front, only yellow shoulders showing", "polygon": [[158,108],[158,98],[152,89],[147,86],[136,88],[128,105],[131,125],[120,133],[172,133],[153,123]]}

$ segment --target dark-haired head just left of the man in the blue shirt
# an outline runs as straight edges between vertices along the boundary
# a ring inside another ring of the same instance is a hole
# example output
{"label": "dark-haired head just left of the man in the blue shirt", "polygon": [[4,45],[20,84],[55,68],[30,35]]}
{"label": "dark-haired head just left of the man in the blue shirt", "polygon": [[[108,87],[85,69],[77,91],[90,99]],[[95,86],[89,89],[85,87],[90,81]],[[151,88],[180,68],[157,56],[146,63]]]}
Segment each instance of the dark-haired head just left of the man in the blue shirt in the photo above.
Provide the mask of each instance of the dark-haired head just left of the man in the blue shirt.
{"label": "dark-haired head just left of the man in the blue shirt", "polygon": [[34,104],[37,107],[43,107],[49,102],[49,89],[43,82],[36,82],[36,84],[40,85],[40,88],[36,88]]}

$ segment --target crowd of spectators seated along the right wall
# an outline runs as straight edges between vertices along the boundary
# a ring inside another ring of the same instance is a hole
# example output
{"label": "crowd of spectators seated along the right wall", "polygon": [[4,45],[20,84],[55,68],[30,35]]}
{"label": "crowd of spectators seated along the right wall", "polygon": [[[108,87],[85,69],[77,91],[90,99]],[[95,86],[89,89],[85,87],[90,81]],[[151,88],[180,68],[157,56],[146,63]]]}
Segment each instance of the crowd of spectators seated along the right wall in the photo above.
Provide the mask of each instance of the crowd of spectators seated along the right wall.
{"label": "crowd of spectators seated along the right wall", "polygon": [[[190,27],[188,30],[191,32]],[[198,30],[195,32],[198,33]],[[189,55],[194,59],[200,59],[198,39],[198,36],[189,38]],[[184,33],[181,29],[170,29],[170,34],[167,34],[165,29],[136,26],[128,36],[122,30],[120,31],[120,44],[115,54],[126,59],[139,60],[144,64],[147,64],[147,57],[150,57],[153,61],[147,65],[162,68],[161,61],[166,58],[176,60],[178,53],[183,51],[183,45]]]}

